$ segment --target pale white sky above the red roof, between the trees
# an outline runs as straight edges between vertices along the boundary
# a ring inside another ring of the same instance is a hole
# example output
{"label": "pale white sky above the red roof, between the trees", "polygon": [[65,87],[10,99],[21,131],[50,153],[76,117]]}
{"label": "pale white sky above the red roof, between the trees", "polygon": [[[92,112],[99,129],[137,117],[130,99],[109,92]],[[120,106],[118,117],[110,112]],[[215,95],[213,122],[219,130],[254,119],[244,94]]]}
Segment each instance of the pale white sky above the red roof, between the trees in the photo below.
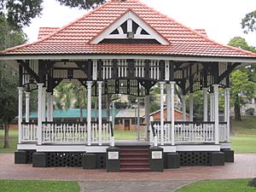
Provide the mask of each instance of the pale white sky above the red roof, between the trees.
{"label": "pale white sky above the red roof, between the trees", "polygon": [[[194,29],[205,29],[212,40],[228,44],[240,36],[256,47],[256,32],[244,34],[241,19],[256,9],[255,0],[141,0],[162,14]],[[44,10],[39,18],[25,28],[29,42],[36,41],[40,26],[61,27],[84,15],[86,10],[69,9],[55,0],[44,0]]]}

